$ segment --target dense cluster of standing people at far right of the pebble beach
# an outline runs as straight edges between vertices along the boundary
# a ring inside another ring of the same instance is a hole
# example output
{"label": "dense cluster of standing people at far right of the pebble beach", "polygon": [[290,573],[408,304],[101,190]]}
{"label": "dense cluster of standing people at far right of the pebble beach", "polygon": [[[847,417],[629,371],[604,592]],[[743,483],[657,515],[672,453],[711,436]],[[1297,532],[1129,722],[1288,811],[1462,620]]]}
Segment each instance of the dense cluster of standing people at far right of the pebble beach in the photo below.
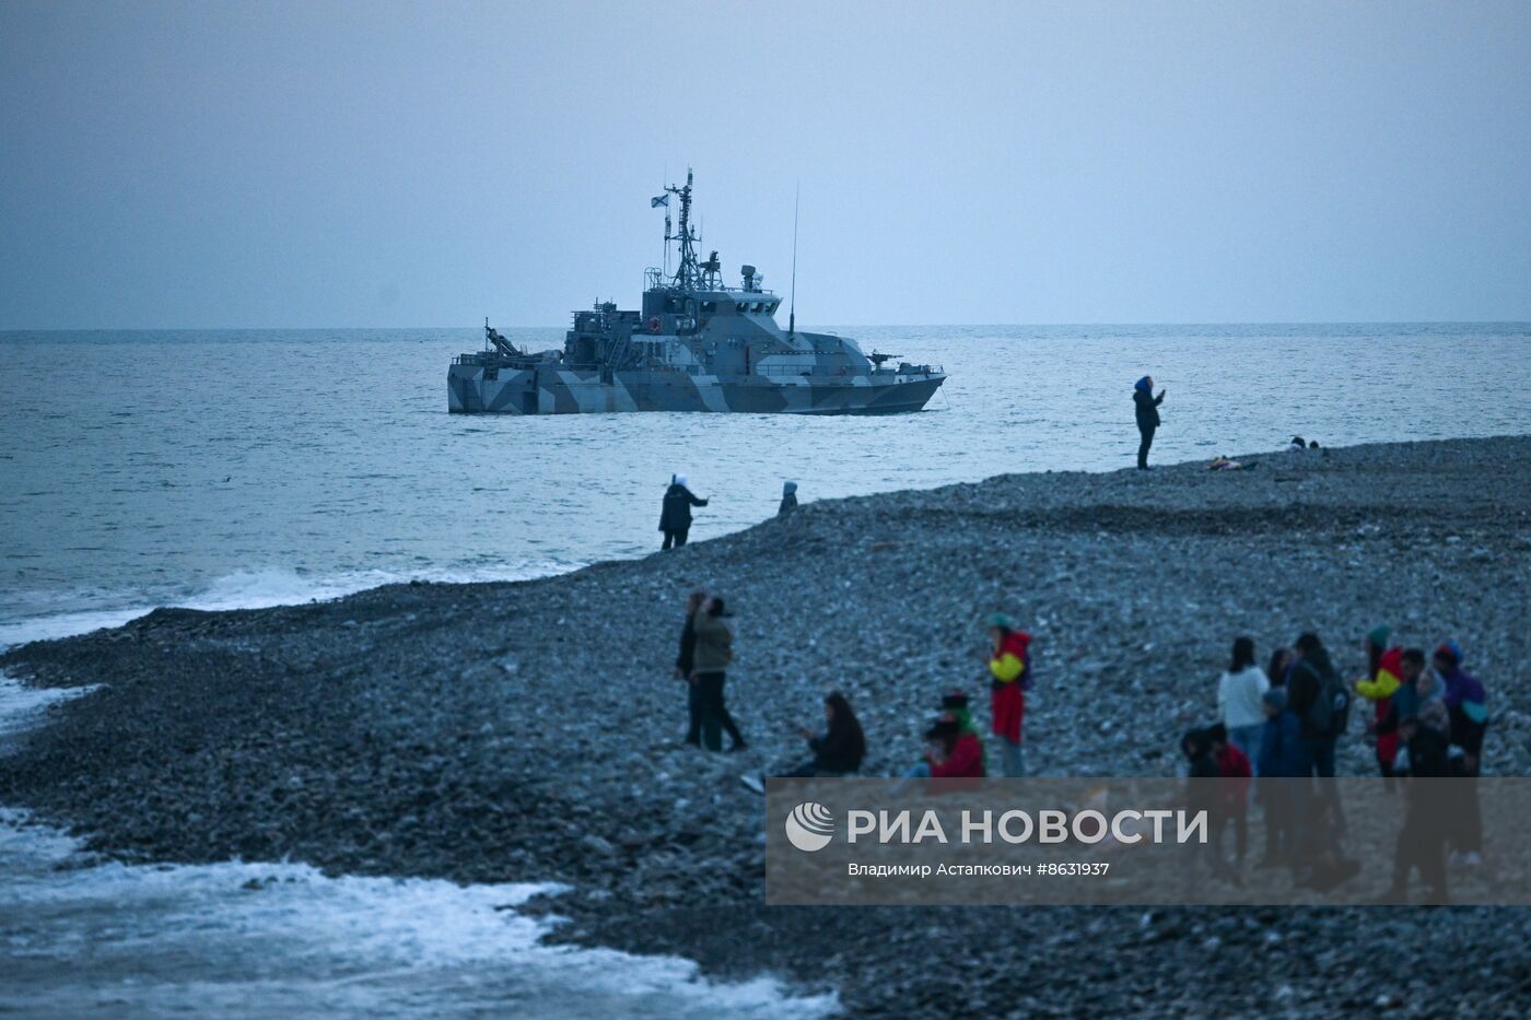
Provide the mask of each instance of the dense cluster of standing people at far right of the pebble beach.
{"label": "dense cluster of standing people at far right of the pebble beach", "polygon": [[[1447,902],[1448,864],[1476,867],[1482,862],[1476,780],[1482,770],[1488,698],[1484,685],[1464,669],[1462,648],[1456,642],[1436,646],[1427,662],[1422,649],[1398,648],[1389,637],[1386,626],[1366,634],[1367,672],[1349,686],[1338,683],[1334,662],[1317,634],[1297,639],[1286,685],[1278,683],[1278,675],[1254,675],[1258,674],[1252,665],[1254,642],[1240,637],[1234,643],[1232,665],[1217,686],[1226,743],[1223,726],[1214,726],[1191,731],[1180,746],[1193,778],[1216,775],[1234,784],[1246,783],[1249,760],[1240,754],[1243,744],[1234,740],[1232,723],[1243,723],[1245,700],[1262,691],[1258,703],[1265,721],[1258,727],[1257,750],[1251,755],[1257,776],[1255,803],[1265,816],[1265,858],[1260,867],[1291,867],[1300,885],[1327,890],[1356,875],[1360,865],[1341,853],[1344,815],[1338,792],[1332,783],[1321,780],[1335,775],[1335,749],[1347,731],[1350,694],[1367,700],[1372,712],[1366,732],[1375,749],[1378,772],[1390,792],[1395,780],[1404,784],[1404,795],[1398,798],[1393,885],[1382,899],[1404,899],[1409,878],[1418,871],[1428,888],[1428,902]],[[1272,657],[1272,674],[1283,668],[1280,659]],[[1262,680],[1269,680],[1269,685],[1262,685]],[[1320,776],[1317,790],[1307,783],[1295,783],[1312,776]],[[1461,783],[1445,786],[1415,783],[1412,778],[1456,778]],[[1242,787],[1228,786],[1217,798],[1205,792],[1197,795],[1211,798],[1209,809],[1216,809],[1211,815],[1214,844],[1220,844],[1222,829],[1229,821],[1234,824],[1236,859],[1242,861]],[[1214,875],[1226,878],[1220,850],[1214,853]],[[1306,865],[1300,868],[1300,862]]]}

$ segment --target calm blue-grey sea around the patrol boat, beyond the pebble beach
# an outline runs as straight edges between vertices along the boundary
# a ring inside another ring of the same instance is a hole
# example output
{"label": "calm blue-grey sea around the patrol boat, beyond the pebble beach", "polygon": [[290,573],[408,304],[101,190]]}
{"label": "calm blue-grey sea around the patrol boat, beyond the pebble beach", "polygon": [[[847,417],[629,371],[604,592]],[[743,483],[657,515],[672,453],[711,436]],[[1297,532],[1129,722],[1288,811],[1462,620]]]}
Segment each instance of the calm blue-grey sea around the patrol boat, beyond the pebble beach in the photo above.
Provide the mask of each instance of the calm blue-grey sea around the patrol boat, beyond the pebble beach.
{"label": "calm blue-grey sea around the patrol boat, beyond the pebble beach", "polygon": [[[554,346],[557,329],[511,331]],[[155,605],[499,579],[694,539],[802,499],[1112,470],[1130,387],[1168,387],[1154,456],[1531,432],[1531,325],[854,328],[951,380],[893,418],[446,414],[475,329],[0,334],[0,643]]]}

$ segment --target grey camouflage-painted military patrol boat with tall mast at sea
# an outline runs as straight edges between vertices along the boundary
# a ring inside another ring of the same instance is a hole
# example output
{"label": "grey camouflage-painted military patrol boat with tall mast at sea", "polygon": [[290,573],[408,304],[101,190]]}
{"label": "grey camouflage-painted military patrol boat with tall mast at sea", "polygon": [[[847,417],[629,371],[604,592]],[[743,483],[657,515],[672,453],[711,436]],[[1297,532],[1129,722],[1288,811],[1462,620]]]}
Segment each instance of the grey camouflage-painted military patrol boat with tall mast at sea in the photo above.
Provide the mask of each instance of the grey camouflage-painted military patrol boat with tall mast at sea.
{"label": "grey camouflage-painted military patrol boat with tall mast at sea", "polygon": [[[680,265],[646,271],[641,311],[599,302],[574,312],[563,349],[516,348],[488,322],[485,349],[461,354],[447,371],[447,409],[522,415],[597,410],[741,410],[787,414],[900,414],[919,410],[946,375],[939,366],[862,354],[854,340],[799,332],[796,309],[776,325],[781,299],[752,265],[739,286],[723,283],[718,253],[697,259],[690,225],[692,175],[652,199],[664,205],[664,256]],[[680,199],[671,233],[669,199]]]}

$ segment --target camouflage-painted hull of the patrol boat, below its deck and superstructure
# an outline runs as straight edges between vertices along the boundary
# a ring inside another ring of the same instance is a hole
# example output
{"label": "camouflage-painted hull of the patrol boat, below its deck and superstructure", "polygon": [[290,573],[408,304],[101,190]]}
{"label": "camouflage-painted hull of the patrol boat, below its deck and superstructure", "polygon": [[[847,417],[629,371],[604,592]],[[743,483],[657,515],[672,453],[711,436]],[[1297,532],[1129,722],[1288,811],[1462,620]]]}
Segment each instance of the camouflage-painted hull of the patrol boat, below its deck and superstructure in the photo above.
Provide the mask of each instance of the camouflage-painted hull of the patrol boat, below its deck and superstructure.
{"label": "camouflage-painted hull of the patrol boat, below its deck and superstructure", "polygon": [[[485,378],[493,374],[495,378]],[[453,365],[447,404],[453,414],[566,415],[620,410],[703,410],[798,415],[896,415],[920,410],[943,375],[796,380],[718,378],[675,371],[580,372],[565,368],[493,372]]]}

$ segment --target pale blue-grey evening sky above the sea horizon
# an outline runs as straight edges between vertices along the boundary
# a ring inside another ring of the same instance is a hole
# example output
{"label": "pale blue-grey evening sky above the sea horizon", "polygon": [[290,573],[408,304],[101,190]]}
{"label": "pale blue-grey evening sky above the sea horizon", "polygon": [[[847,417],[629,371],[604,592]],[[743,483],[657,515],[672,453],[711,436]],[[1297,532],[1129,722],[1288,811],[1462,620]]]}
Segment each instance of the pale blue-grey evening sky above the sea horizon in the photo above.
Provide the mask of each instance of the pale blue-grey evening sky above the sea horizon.
{"label": "pale blue-grey evening sky above the sea horizon", "polygon": [[0,328],[1531,319],[1531,3],[0,0]]}

